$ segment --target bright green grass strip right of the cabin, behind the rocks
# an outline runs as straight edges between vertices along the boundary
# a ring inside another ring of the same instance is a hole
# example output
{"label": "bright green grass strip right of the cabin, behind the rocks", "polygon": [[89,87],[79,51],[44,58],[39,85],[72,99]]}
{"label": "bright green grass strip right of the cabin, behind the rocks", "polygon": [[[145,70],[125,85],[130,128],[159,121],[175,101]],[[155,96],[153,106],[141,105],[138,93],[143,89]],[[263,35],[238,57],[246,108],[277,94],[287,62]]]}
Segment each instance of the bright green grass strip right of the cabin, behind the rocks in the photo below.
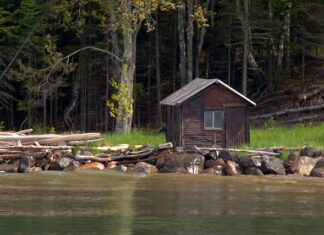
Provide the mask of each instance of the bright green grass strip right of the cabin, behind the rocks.
{"label": "bright green grass strip right of the cabin, behind the rocks", "polygon": [[252,128],[251,149],[275,146],[314,148],[324,147],[324,123],[313,126],[294,125],[289,127],[271,126],[266,128]]}

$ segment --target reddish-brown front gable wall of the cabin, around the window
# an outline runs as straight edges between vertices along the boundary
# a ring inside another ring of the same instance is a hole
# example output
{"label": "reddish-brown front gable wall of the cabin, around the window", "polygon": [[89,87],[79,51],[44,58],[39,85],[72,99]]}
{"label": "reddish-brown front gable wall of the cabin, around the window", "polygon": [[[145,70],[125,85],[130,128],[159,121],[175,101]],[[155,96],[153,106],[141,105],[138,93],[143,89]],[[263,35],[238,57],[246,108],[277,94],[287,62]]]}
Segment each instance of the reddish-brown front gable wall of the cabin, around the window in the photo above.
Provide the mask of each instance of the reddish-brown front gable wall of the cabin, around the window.
{"label": "reddish-brown front gable wall of the cabin, around the window", "polygon": [[[218,84],[187,100],[182,105],[181,146],[212,146],[216,144],[216,146],[225,147],[229,144],[236,144],[233,132],[238,129],[238,125],[243,125],[242,128],[246,129],[246,112],[237,112],[235,116],[229,118],[229,116],[226,117],[228,107],[241,107],[247,110],[247,104],[242,98]],[[222,110],[224,112],[222,130],[206,130],[204,128],[204,110]],[[229,115],[231,114],[229,113]],[[231,121],[226,122],[227,119]],[[226,136],[227,129],[232,130],[230,136]],[[241,136],[239,142],[247,142],[245,130]],[[229,140],[232,141],[227,144],[226,141]]]}

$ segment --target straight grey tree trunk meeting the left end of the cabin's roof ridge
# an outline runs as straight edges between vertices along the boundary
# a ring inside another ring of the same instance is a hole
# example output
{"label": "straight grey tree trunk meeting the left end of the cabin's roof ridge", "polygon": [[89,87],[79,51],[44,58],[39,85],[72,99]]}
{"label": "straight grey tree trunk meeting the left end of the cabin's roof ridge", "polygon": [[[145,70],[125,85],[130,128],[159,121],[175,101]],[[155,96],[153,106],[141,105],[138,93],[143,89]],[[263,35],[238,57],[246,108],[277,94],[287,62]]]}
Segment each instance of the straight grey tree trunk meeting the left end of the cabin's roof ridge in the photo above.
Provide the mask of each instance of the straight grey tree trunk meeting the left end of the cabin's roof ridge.
{"label": "straight grey tree trunk meeting the left end of the cabin's roof ridge", "polygon": [[191,82],[193,79],[193,0],[187,1],[187,15],[188,15],[188,27],[187,27],[187,82]]}

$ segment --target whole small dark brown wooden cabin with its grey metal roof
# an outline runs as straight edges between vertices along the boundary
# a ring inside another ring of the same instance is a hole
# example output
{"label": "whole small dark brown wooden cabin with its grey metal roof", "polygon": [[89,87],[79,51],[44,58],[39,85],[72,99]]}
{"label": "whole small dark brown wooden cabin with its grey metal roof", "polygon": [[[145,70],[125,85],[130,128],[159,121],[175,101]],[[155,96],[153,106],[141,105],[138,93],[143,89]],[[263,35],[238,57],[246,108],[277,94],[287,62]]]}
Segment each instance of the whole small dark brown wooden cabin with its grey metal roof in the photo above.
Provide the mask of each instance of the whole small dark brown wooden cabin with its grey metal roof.
{"label": "whole small dark brown wooden cabin with its grey metal roof", "polygon": [[250,142],[249,108],[256,104],[221,80],[196,78],[161,104],[167,106],[166,138],[175,146]]}

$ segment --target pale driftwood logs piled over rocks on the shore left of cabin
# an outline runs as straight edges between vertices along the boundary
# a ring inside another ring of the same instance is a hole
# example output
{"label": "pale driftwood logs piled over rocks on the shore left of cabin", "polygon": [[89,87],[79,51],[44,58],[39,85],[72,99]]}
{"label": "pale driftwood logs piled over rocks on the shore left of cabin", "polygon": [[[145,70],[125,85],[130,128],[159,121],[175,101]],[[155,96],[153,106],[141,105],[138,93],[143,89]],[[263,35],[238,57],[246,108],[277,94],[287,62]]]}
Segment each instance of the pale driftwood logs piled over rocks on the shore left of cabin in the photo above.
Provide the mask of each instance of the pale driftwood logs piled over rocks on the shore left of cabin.
{"label": "pale driftwood logs piled over rocks on the shore left of cabin", "polygon": [[[32,135],[31,132],[32,129],[0,132],[0,171],[109,168],[155,160],[173,147],[171,143],[156,148],[137,146],[135,150],[130,150],[127,144],[92,147],[86,144],[101,140],[100,133]],[[90,151],[99,153],[93,155]]]}

